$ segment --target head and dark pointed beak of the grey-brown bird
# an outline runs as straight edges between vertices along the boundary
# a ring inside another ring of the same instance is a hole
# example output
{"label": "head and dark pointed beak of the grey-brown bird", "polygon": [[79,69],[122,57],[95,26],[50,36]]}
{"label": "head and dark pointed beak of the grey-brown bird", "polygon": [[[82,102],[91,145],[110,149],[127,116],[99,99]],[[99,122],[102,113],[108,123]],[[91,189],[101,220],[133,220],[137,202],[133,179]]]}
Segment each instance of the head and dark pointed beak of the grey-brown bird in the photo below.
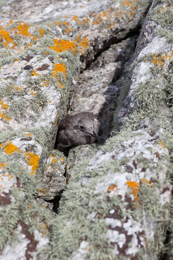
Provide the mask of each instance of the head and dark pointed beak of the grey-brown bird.
{"label": "head and dark pointed beak of the grey-brown bird", "polygon": [[97,133],[94,130],[93,120],[91,120],[90,118],[79,119],[79,121],[77,122],[77,128],[83,134],[92,136],[96,138],[98,141],[100,141],[100,137],[97,135]]}

